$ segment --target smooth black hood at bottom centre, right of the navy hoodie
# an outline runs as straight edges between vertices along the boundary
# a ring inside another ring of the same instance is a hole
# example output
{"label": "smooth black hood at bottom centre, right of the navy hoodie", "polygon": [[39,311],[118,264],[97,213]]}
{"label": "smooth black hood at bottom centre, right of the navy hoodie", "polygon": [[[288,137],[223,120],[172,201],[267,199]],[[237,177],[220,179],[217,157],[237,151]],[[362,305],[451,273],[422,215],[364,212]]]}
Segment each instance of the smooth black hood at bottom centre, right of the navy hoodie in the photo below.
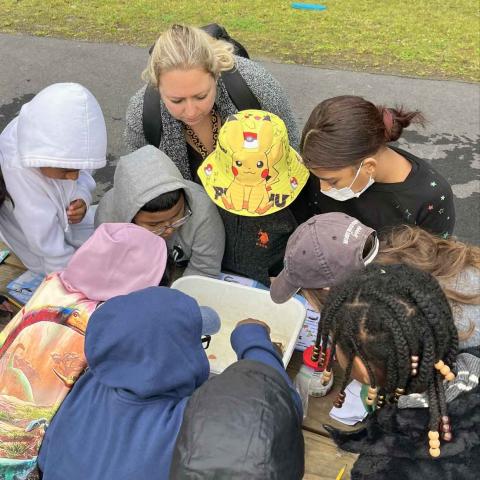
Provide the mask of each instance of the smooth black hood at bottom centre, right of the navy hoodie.
{"label": "smooth black hood at bottom centre, right of the navy hoodie", "polygon": [[241,360],[188,402],[170,480],[297,480],[304,473],[301,417],[272,367]]}

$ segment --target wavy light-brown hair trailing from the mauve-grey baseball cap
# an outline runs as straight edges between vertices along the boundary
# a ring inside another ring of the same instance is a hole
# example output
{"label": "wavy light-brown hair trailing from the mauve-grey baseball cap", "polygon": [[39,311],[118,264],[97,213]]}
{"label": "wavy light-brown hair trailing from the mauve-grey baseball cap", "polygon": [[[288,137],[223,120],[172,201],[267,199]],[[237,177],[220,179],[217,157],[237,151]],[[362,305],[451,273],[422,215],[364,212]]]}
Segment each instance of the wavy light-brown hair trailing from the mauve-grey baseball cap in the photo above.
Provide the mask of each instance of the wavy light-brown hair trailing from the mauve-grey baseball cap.
{"label": "wavy light-brown hair trailing from the mauve-grey baseball cap", "polygon": [[[452,280],[465,269],[480,269],[479,247],[437,237],[418,227],[402,225],[382,240],[375,262],[383,265],[404,263],[433,275],[450,302],[454,316],[461,304],[480,304],[478,286],[477,291],[471,294],[452,288]],[[468,338],[473,330],[474,326],[470,325],[468,331],[459,332],[459,337]]]}

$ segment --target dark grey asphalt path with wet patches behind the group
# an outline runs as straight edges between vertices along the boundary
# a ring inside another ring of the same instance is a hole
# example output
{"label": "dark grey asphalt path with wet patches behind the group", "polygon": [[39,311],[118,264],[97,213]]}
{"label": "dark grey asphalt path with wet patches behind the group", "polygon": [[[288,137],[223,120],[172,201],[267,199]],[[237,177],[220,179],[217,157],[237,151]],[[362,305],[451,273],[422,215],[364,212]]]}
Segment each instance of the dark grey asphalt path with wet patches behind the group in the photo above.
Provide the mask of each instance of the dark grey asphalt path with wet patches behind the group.
{"label": "dark grey asphalt path with wet patches behind the group", "polygon": [[[108,165],[97,171],[97,197],[112,183],[124,153],[122,133],[130,96],[142,86],[146,49],[27,35],[0,34],[0,131],[23,103],[55,82],[85,85],[102,106],[109,135]],[[423,157],[455,194],[455,234],[480,244],[480,86],[364,72],[312,68],[261,60],[284,86],[302,128],[310,111],[336,95],[361,95],[385,106],[422,111],[425,128],[405,130],[398,144]]]}

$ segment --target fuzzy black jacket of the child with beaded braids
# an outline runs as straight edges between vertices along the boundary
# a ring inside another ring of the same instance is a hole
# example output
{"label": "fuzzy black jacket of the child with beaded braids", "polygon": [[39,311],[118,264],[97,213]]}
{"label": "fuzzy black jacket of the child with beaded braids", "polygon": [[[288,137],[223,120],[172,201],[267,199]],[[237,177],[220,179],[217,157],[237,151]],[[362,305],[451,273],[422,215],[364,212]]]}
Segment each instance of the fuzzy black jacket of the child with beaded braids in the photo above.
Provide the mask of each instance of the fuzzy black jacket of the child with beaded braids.
{"label": "fuzzy black jacket of the child with beaded braids", "polygon": [[480,478],[480,388],[448,403],[453,439],[441,441],[440,456],[428,452],[429,410],[386,406],[365,428],[341,432],[325,426],[343,450],[359,453],[352,480]]}

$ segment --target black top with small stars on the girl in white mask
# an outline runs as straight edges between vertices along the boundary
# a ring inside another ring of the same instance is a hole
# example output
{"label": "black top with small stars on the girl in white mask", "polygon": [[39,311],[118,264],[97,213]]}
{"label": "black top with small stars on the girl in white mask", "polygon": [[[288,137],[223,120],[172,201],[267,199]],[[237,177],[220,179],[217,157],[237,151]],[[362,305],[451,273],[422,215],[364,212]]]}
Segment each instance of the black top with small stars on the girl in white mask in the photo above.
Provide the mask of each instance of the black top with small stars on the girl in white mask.
{"label": "black top with small stars on the girl in white mask", "polygon": [[359,198],[339,202],[320,192],[315,178],[309,188],[309,207],[315,214],[344,212],[382,233],[401,224],[417,225],[447,237],[455,226],[455,206],[449,183],[425,160],[400,148],[412,170],[401,183],[374,183]]}

